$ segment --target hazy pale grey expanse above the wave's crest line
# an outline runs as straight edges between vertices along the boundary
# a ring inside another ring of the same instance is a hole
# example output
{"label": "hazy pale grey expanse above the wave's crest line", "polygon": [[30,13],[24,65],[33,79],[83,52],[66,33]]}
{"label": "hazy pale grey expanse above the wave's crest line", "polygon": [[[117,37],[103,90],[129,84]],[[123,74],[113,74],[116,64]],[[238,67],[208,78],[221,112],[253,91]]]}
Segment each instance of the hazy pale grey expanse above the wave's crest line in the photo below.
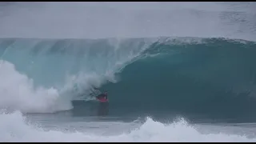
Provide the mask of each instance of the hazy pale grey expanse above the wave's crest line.
{"label": "hazy pale grey expanse above the wave's crest line", "polygon": [[255,2],[1,2],[0,37],[256,39]]}

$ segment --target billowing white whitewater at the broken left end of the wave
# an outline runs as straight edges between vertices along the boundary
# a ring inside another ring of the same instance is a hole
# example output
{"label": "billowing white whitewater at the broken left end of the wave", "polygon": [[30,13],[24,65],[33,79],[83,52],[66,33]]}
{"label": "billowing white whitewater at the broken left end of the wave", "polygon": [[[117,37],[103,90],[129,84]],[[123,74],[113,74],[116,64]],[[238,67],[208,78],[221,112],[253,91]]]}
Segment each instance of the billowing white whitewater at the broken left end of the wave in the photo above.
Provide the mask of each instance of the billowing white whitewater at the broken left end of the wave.
{"label": "billowing white whitewater at the broken left end of the wave", "polygon": [[69,98],[60,99],[54,88],[34,87],[33,80],[18,73],[10,62],[0,60],[0,107],[26,113],[70,110]]}

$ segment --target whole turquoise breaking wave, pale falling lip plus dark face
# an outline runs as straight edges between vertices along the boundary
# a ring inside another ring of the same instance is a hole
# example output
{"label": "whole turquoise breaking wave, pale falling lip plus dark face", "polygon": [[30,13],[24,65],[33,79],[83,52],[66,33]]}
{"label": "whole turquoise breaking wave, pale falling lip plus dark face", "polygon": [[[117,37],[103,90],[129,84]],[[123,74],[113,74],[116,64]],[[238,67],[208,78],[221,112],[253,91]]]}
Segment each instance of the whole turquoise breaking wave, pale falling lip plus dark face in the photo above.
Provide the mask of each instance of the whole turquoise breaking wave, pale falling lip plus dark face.
{"label": "whole turquoise breaking wave, pale falling lip plus dark face", "polygon": [[248,114],[255,46],[223,38],[2,38],[0,58],[35,86],[74,99],[108,90],[112,109]]}

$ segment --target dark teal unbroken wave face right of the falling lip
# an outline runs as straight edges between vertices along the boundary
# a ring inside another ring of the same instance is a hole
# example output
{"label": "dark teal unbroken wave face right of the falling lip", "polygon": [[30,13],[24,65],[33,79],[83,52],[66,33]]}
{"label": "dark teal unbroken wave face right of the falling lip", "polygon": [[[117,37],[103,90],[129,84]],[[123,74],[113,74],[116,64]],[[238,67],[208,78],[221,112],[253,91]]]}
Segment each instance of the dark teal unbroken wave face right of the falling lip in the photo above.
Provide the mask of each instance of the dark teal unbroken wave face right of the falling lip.
{"label": "dark teal unbroken wave face right of the falling lip", "polygon": [[[103,89],[116,107],[204,114],[251,114],[255,108],[254,42],[154,42]],[[113,104],[113,105],[114,105]],[[112,104],[111,104],[112,105]]]}

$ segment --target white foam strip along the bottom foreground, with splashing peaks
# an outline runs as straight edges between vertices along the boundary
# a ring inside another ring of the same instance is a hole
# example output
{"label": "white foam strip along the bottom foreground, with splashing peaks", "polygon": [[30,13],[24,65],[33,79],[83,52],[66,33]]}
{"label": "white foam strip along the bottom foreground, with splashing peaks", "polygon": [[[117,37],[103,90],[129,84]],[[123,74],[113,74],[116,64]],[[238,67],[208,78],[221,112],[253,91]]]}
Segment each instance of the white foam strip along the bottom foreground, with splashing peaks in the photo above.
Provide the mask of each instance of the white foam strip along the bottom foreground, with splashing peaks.
{"label": "white foam strip along the bottom foreground, with splashing peaks", "polygon": [[201,134],[184,120],[165,125],[147,118],[137,130],[111,136],[43,130],[18,111],[0,114],[0,121],[1,142],[256,142],[235,134]]}

